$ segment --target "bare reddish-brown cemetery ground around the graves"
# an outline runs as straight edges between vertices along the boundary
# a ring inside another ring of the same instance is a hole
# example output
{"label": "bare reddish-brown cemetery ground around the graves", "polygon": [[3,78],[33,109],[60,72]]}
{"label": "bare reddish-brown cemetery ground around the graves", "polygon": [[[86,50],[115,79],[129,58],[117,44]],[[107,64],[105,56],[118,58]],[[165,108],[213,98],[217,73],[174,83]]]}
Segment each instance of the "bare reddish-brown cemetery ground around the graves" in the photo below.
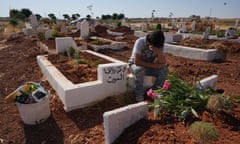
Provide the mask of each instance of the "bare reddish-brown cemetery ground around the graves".
{"label": "bare reddish-brown cemetery ground around the graves", "polygon": [[[104,34],[99,33],[100,36]],[[102,51],[106,55],[127,60],[134,40],[131,34],[127,41],[129,47],[121,51]],[[110,38],[110,37],[109,37]],[[200,120],[210,122],[219,131],[219,139],[215,143],[238,144],[240,138],[240,47],[238,43],[229,43],[223,62],[204,62],[166,55],[169,69],[189,83],[195,83],[213,74],[218,75],[216,89],[223,90],[226,96],[233,99],[233,108],[218,115],[208,111],[200,114]],[[125,103],[119,96],[112,96],[86,108],[66,113],[63,105],[52,87],[50,90],[50,118],[39,125],[29,126],[21,121],[15,104],[4,103],[4,98],[25,82],[46,80],[37,64],[36,56],[41,53],[36,46],[36,38],[19,36],[6,40],[0,34],[0,143],[3,144],[81,144],[104,143],[103,113],[119,108]],[[83,69],[84,70],[84,69]],[[132,92],[126,93],[130,98]],[[133,102],[133,101],[132,101]],[[154,119],[149,111],[148,119],[143,119],[127,128],[115,143],[177,143],[193,144],[188,134],[191,122],[169,119]]]}

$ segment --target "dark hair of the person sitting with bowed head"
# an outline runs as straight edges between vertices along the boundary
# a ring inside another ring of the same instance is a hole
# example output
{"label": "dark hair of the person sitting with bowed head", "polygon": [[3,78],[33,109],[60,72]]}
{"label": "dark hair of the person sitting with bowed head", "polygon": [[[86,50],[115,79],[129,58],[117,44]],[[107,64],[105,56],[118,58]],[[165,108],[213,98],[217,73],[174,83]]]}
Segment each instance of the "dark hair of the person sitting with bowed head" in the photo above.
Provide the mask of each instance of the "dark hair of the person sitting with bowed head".
{"label": "dark hair of the person sitting with bowed head", "polygon": [[162,31],[154,31],[147,35],[147,42],[155,47],[163,47],[165,37]]}

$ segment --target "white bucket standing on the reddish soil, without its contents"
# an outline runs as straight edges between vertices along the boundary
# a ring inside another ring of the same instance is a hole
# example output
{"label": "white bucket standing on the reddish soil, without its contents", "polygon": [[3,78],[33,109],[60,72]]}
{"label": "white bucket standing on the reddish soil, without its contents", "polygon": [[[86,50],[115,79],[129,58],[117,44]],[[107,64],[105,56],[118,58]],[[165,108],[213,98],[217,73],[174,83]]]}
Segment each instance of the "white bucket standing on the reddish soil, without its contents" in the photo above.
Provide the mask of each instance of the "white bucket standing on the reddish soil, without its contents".
{"label": "white bucket standing on the reddish soil, without its contents", "polygon": [[46,121],[51,114],[49,101],[50,96],[47,95],[38,103],[22,104],[17,102],[22,121],[29,125],[36,125]]}

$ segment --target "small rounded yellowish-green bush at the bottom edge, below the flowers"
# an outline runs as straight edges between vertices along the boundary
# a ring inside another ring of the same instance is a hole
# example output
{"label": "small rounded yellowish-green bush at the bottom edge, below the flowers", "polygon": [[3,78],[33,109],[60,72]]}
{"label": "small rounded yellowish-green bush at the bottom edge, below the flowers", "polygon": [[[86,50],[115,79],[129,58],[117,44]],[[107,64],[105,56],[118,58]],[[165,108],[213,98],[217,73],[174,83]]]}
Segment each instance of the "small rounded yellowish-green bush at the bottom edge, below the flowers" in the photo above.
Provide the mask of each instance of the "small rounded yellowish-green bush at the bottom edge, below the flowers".
{"label": "small rounded yellowish-green bush at the bottom edge, below the flowers", "polygon": [[190,135],[200,144],[218,139],[218,130],[211,123],[196,121],[189,128]]}

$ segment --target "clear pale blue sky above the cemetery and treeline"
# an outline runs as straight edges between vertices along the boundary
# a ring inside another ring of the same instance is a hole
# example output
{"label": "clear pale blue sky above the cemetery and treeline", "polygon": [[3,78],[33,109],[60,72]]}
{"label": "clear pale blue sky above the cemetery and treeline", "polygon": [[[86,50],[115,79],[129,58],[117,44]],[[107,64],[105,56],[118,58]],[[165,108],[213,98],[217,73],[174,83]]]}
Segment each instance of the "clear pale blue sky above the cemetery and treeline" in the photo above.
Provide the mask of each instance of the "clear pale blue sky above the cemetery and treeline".
{"label": "clear pale blue sky above the cemetery and treeline", "polygon": [[2,0],[0,17],[8,17],[10,9],[27,8],[34,14],[48,17],[49,13],[57,18],[63,14],[80,14],[85,18],[113,13],[124,14],[128,18],[189,17],[199,15],[217,18],[240,18],[240,0]]}

